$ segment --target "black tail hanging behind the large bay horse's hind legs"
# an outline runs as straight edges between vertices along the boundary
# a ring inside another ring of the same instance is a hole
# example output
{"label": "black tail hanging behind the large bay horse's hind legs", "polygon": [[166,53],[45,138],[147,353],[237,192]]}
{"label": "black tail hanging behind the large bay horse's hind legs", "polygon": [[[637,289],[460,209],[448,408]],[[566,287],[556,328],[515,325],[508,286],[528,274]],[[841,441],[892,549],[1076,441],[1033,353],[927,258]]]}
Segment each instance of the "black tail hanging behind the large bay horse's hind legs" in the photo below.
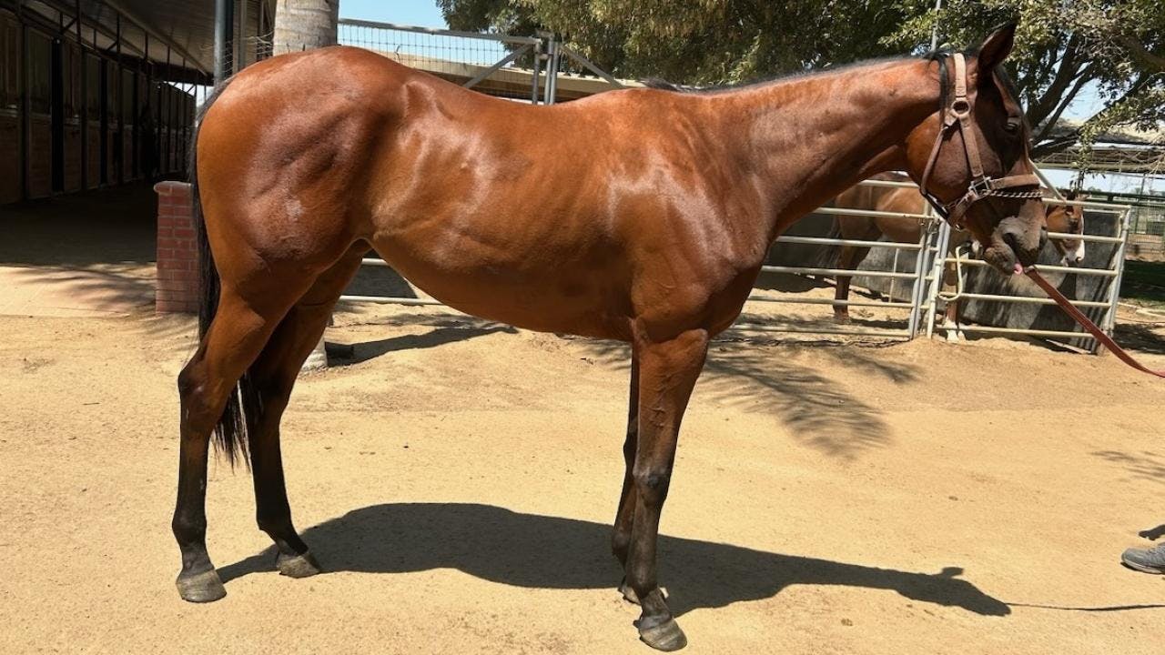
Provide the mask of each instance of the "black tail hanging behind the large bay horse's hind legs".
{"label": "black tail hanging behind the large bay horse's hind legs", "polygon": [[[214,267],[214,253],[211,252],[210,240],[206,238],[206,221],[203,218],[203,203],[198,195],[198,128],[203,124],[206,111],[218,99],[226,89],[230,80],[219,85],[203,103],[202,110],[195,120],[195,129],[190,139],[190,216],[195,226],[195,239],[198,241],[199,261],[199,301],[198,301],[198,338],[206,337],[206,332],[218,314],[219,293],[221,283],[219,281],[218,268]],[[249,464],[247,452],[247,416],[257,416],[259,396],[255,394],[250,376],[243,374],[239,380],[238,388],[231,394],[214,427],[214,446],[220,453],[226,456],[231,466],[235,462]]]}

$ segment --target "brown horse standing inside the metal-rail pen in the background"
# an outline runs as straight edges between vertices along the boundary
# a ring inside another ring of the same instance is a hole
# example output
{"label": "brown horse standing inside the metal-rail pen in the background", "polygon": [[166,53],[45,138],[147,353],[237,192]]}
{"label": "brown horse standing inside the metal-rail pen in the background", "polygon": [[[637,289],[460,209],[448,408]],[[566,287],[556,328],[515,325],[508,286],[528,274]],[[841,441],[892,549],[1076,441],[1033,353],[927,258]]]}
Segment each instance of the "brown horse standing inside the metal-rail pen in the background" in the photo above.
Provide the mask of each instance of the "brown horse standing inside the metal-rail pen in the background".
{"label": "brown horse standing inside the metal-rail pen in the background", "polygon": [[[910,177],[897,172],[881,172],[870,177],[870,179],[909,182]],[[1045,226],[1047,230],[1066,234],[1083,234],[1083,211],[1078,205],[1060,204],[1050,198],[1050,193],[1045,193]],[[1076,199],[1076,192],[1072,190],[1065,191],[1064,198],[1066,200],[1074,200]],[[911,188],[857,184],[839,193],[831,203],[831,206],[920,214],[926,209],[926,200]],[[885,237],[888,241],[917,244],[922,239],[922,223],[918,219],[905,216],[833,214],[833,226],[829,237],[861,241],[877,241],[882,237]],[[972,235],[966,230],[952,231],[947,252],[954,253],[956,248],[969,241],[972,241]],[[1083,261],[1083,240],[1060,237],[1050,239],[1050,241],[1060,254],[1060,266],[1079,266]],[[836,256],[836,268],[856,270],[862,261],[866,260],[870,248],[866,246],[843,245],[835,246],[831,251]],[[944,267],[944,282],[948,286],[954,284],[954,265],[946,265]],[[849,275],[836,276],[834,300],[849,300],[850,281],[852,276]],[[958,325],[958,316],[959,301],[956,298],[947,302],[946,305],[944,325],[952,328],[952,330],[947,331],[947,340],[958,340],[956,332],[953,329]],[[833,305],[833,319],[836,323],[849,323],[849,307],[845,304]]]}

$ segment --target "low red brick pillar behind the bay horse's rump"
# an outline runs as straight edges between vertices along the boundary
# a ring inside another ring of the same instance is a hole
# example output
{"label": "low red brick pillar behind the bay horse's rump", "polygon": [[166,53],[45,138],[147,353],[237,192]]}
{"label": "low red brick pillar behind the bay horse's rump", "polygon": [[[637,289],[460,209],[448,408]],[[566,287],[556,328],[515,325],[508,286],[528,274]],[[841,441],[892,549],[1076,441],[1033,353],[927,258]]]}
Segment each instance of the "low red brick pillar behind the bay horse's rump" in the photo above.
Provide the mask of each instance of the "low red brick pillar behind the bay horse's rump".
{"label": "low red brick pillar behind the bay horse's rump", "polygon": [[190,216],[190,184],[158,182],[155,310],[198,312],[198,244]]}

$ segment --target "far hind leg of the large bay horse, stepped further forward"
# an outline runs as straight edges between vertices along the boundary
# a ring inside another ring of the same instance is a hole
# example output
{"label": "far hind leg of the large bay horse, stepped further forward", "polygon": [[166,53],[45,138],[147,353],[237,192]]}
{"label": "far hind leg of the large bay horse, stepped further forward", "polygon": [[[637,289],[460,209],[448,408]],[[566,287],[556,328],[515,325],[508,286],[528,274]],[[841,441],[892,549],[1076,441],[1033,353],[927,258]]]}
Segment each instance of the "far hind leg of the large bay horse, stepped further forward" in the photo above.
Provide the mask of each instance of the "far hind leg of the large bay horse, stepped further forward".
{"label": "far hind leg of the large bay horse, stepped further forward", "polygon": [[360,267],[367,249],[366,246],[354,247],[316,280],[280,322],[248,371],[260,401],[257,416],[249,417],[247,427],[255,519],[278,549],[275,562],[280,572],[292,578],[318,573],[319,565],[291,522],[280,453],[280,420],[299,367],[319,341],[337,298]]}

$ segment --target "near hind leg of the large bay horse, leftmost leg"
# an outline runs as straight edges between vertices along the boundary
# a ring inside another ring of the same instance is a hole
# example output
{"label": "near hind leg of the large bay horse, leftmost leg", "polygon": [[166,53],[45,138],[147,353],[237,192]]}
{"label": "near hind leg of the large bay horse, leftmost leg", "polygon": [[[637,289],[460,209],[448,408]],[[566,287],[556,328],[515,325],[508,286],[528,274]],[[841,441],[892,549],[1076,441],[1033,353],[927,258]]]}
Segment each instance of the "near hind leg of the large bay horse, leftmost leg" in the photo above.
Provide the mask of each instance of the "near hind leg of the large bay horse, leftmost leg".
{"label": "near hind leg of the large bay horse, leftmost leg", "polygon": [[178,593],[192,603],[218,600],[226,589],[206,554],[206,456],[211,432],[223,415],[239,378],[263,348],[285,309],[278,294],[264,297],[263,310],[228,288],[219,298],[218,314],[195,357],[178,375],[182,397],[178,460],[178,501],[174,509],[174,536],[182,550]]}

